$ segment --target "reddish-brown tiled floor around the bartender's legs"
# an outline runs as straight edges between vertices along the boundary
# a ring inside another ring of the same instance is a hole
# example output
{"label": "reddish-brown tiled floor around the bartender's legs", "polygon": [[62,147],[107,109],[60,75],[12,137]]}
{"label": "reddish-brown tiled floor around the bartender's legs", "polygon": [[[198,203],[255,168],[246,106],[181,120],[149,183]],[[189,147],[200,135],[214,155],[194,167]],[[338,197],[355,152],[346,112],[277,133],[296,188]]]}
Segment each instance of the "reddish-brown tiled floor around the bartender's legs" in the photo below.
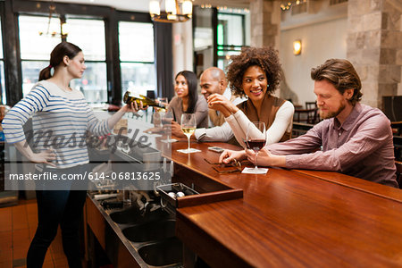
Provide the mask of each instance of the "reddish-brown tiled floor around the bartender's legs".
{"label": "reddish-brown tiled floor around the bartender's legs", "polygon": [[[0,208],[0,268],[26,267],[30,240],[38,224],[36,199]],[[60,229],[47,250],[44,268],[68,267]]]}

